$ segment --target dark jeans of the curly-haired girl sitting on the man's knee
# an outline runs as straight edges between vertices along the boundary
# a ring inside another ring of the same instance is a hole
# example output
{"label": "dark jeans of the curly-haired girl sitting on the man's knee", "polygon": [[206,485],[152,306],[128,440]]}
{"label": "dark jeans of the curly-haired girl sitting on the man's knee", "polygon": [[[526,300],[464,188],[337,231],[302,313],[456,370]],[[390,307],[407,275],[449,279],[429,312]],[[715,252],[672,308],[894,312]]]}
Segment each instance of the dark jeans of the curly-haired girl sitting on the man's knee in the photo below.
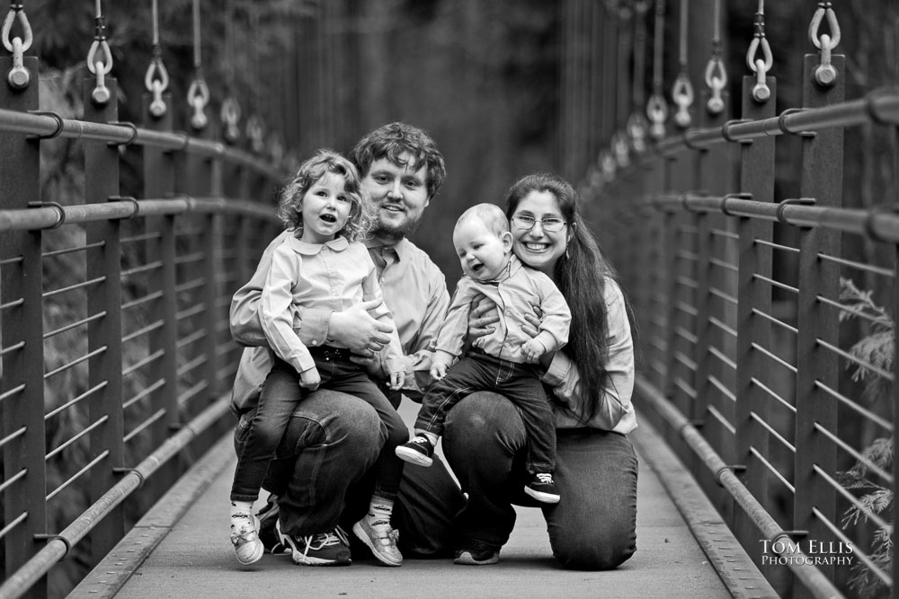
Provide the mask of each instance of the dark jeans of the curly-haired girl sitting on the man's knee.
{"label": "dark jeans of the curly-haired girl sitting on the man's knee", "polygon": [[[349,359],[335,358],[322,352],[314,351],[313,357],[322,378],[322,387],[345,392],[365,401],[378,412],[378,417],[387,427],[387,444],[378,462],[378,479],[374,492],[383,498],[396,498],[403,475],[403,462],[394,454],[394,448],[409,439],[409,431],[403,419],[360,366]],[[304,396],[308,393],[307,389],[299,386],[299,376],[293,366],[275,358],[265,379],[250,429],[237,454],[239,460],[231,488],[232,500],[254,501],[258,498],[271,456],[279,445],[291,416],[306,401]]]}

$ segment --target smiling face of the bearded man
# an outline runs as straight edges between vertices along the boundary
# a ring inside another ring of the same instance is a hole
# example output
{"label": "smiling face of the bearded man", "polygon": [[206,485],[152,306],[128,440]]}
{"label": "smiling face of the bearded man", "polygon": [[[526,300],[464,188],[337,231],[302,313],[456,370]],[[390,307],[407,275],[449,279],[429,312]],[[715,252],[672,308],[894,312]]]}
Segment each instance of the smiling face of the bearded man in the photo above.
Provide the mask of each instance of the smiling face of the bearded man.
{"label": "smiling face of the bearded man", "polygon": [[362,179],[375,217],[372,235],[391,242],[397,242],[415,230],[424,208],[431,201],[426,165],[416,170],[417,164],[411,155],[401,154],[400,159],[406,164],[379,158],[371,163],[369,172]]}

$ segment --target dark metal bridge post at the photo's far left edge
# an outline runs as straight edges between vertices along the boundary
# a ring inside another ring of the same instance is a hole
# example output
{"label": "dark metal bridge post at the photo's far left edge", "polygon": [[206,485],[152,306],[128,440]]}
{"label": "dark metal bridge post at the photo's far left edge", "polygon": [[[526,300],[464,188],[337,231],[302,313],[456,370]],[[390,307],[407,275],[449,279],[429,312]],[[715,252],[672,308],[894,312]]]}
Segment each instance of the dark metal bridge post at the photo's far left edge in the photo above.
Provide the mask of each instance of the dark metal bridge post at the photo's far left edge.
{"label": "dark metal bridge post at the photo's far left edge", "polygon": [[[31,84],[13,90],[0,82],[0,107],[38,109],[38,58],[24,57]],[[0,57],[0,74],[13,57]],[[25,135],[0,136],[0,208],[21,209],[40,198],[40,143]],[[35,534],[47,530],[44,438],[44,344],[40,231],[0,234],[0,421],[4,482],[4,573],[10,576],[43,547]],[[13,482],[14,481],[14,482]],[[47,595],[47,578],[30,596]]]}

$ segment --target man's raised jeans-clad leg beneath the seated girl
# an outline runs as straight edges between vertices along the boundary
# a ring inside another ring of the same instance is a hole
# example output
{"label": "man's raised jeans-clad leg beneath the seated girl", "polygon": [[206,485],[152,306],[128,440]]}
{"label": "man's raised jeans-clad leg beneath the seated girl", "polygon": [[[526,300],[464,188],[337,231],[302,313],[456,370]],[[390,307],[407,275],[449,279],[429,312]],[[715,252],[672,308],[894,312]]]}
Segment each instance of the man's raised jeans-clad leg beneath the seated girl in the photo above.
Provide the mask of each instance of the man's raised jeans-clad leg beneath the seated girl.
{"label": "man's raised jeans-clad leg beneath the seated girl", "polygon": [[[253,415],[253,410],[245,413],[235,428],[238,455]],[[366,492],[355,487],[378,461],[386,439],[378,412],[356,397],[319,390],[301,401],[263,483],[279,496],[281,531],[301,536],[333,531],[347,496]],[[369,486],[366,501],[370,497]]]}

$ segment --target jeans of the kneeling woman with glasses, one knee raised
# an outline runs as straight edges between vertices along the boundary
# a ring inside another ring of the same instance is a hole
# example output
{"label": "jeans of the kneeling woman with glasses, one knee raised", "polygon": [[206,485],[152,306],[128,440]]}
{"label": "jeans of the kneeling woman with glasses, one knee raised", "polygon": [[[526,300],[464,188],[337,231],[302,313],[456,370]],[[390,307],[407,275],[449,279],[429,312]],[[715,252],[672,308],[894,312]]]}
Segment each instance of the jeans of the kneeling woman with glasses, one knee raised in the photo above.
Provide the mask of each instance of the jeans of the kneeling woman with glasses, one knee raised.
{"label": "jeans of the kneeling woman with glasses, one knee raised", "polygon": [[527,436],[511,401],[477,392],[449,411],[443,452],[467,492],[453,522],[458,548],[498,551],[515,524],[512,504],[542,507],[553,555],[565,568],[615,568],[636,551],[634,448],[626,436],[558,429],[554,479],[562,500],[524,494]]}

